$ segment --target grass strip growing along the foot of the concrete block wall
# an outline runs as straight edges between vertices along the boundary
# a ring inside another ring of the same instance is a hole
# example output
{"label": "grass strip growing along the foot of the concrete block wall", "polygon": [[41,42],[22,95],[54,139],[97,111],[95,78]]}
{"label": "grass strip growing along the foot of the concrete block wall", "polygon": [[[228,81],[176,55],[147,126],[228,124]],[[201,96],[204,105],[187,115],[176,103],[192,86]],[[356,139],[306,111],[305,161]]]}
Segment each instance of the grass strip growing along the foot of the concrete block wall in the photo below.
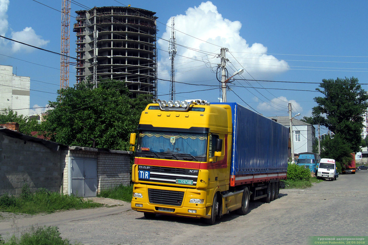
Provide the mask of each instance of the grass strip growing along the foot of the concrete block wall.
{"label": "grass strip growing along the foot of the concrete block wall", "polygon": [[97,208],[103,204],[84,201],[75,195],[64,195],[58,192],[39,189],[35,193],[29,191],[28,185],[22,188],[20,198],[4,194],[0,197],[0,211],[11,213],[53,213],[59,210]]}

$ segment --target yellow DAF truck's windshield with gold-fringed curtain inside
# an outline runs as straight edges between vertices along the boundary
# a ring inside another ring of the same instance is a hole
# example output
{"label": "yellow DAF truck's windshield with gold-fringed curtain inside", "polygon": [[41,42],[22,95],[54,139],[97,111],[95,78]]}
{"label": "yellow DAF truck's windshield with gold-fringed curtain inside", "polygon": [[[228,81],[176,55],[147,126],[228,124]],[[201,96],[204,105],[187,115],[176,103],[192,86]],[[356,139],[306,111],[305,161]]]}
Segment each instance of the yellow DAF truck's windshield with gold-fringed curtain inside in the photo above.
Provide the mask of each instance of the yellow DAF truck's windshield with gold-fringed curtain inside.
{"label": "yellow DAF truck's windshield with gold-fringed curtain inside", "polygon": [[207,134],[142,131],[139,133],[137,152],[202,158],[206,156],[206,149]]}

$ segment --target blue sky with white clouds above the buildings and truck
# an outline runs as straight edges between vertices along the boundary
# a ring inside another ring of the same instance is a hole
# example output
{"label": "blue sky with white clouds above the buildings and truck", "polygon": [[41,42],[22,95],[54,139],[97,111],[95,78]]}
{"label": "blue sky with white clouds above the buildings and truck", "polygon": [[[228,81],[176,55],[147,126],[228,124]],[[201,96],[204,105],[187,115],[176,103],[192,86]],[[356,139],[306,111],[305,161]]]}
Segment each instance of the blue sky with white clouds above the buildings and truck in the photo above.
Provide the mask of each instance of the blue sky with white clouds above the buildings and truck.
{"label": "blue sky with white clouds above the buildings and truck", "polygon": [[[39,2],[51,8],[33,0],[0,0],[0,35],[60,53],[61,13],[56,10],[61,10],[61,1]],[[315,92],[318,84],[305,82],[354,76],[360,83],[368,83],[367,1],[230,0],[224,4],[217,0],[79,0],[78,3],[88,8],[131,4],[156,12],[158,37],[162,38],[158,39],[160,79],[170,78],[166,40],[170,38],[171,17],[175,17],[177,44],[181,45],[175,59],[177,82],[219,85],[210,67],[216,68],[220,63],[216,57],[220,47],[229,48],[226,53],[229,74],[239,68],[247,71],[237,78],[299,82],[234,81],[235,93],[227,91],[227,101],[239,102],[265,116],[287,116],[288,102],[293,104],[294,115],[301,113],[297,118],[311,116],[316,105],[313,98],[322,94]],[[71,16],[75,17],[75,11],[82,9],[85,8],[72,3]],[[72,17],[71,26],[75,23]],[[71,28],[72,57],[76,56],[75,39]],[[18,76],[31,77],[31,107],[45,107],[48,101],[55,101],[60,87],[59,55],[0,39],[0,64],[13,66],[13,73]],[[70,72],[72,85],[73,66]],[[362,87],[368,90],[367,85]],[[218,101],[219,89],[197,91],[211,88],[177,83],[176,92],[180,94],[176,99]],[[158,91],[160,99],[169,98],[167,82],[160,81]]]}

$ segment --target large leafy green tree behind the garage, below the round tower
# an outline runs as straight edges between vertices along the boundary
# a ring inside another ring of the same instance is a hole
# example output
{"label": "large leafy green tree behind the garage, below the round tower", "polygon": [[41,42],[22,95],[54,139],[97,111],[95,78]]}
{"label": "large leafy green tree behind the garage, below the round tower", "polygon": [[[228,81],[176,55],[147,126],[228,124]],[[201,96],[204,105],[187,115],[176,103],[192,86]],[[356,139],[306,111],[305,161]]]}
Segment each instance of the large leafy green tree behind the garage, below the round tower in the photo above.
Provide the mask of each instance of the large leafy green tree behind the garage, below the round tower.
{"label": "large leafy green tree behind the garage, below the round tower", "polygon": [[[109,82],[111,82],[109,84]],[[124,82],[103,81],[98,88],[80,84],[58,91],[49,102],[44,129],[51,140],[83,147],[127,150],[129,137],[151,95],[130,98]]]}

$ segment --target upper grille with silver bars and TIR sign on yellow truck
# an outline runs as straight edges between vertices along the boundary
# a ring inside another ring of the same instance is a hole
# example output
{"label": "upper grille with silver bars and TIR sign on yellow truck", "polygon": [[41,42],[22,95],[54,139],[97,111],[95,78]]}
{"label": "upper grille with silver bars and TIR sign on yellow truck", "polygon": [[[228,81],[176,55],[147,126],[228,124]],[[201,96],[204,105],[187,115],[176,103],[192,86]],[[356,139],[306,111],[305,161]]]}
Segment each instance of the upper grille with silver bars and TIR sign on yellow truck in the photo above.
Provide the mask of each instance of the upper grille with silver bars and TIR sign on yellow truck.
{"label": "upper grille with silver bars and TIR sign on yellow truck", "polygon": [[149,178],[138,175],[139,181],[175,184],[177,180],[187,180],[186,183],[188,184],[185,185],[197,185],[198,169],[138,165],[138,171],[141,171],[141,169],[149,172]]}

